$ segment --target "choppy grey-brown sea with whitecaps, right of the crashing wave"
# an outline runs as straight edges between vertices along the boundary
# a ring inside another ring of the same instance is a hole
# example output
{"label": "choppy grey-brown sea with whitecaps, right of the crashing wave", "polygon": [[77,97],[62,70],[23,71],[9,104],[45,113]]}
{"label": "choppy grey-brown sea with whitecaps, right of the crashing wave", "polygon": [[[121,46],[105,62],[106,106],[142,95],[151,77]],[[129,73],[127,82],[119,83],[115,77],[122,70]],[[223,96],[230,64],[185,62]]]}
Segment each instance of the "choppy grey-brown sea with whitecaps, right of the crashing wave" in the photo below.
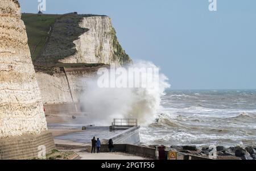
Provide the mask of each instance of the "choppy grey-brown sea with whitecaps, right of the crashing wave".
{"label": "choppy grey-brown sea with whitecaps, right of the crashing wave", "polygon": [[168,91],[142,144],[256,145],[256,90]]}

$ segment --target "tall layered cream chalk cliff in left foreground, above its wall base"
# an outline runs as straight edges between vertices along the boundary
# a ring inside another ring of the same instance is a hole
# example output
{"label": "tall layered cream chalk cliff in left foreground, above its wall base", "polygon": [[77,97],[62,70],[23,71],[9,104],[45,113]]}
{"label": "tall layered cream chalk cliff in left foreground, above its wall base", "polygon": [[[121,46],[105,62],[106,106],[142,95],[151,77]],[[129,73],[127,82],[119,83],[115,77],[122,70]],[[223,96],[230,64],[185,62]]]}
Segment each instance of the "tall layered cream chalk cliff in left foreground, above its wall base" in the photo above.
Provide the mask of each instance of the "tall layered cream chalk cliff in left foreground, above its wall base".
{"label": "tall layered cream chalk cliff in left foreground, above its wall base", "polygon": [[0,137],[47,130],[18,1],[0,1]]}

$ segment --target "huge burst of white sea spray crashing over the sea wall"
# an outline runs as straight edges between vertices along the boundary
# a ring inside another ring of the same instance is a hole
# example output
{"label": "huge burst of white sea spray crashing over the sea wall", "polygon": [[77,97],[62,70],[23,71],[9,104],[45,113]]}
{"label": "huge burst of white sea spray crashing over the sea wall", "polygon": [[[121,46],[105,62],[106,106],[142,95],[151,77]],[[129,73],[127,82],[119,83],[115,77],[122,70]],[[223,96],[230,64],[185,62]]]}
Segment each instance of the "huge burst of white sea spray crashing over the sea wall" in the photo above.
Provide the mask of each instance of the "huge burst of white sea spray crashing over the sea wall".
{"label": "huge burst of white sea spray crashing over the sea wall", "polygon": [[[140,71],[139,77],[141,82],[136,83],[135,81],[134,84],[134,74],[129,74],[130,68]],[[139,61],[125,68],[115,69],[122,70],[123,72],[126,70],[127,80],[124,77],[120,79],[121,72],[115,73],[115,79],[111,79],[110,76],[113,76],[113,73],[110,69],[108,69],[108,81],[110,82],[105,84],[109,85],[109,87],[99,85],[99,79],[102,76],[84,78],[82,80],[85,82],[86,88],[81,96],[81,106],[88,115],[88,122],[98,125],[109,125],[114,118],[127,118],[138,119],[139,124],[142,125],[151,123],[159,109],[164,90],[170,87],[170,84],[167,82],[168,78],[162,73],[157,73],[157,79],[155,79],[156,72],[148,72],[148,70],[159,69],[152,62],[147,61]],[[146,86],[143,80],[147,81]],[[151,81],[150,85],[148,80]],[[123,82],[127,83],[127,87],[117,86],[118,82],[121,82],[122,85],[124,85]],[[132,85],[130,84],[131,82],[133,86],[129,86]]]}

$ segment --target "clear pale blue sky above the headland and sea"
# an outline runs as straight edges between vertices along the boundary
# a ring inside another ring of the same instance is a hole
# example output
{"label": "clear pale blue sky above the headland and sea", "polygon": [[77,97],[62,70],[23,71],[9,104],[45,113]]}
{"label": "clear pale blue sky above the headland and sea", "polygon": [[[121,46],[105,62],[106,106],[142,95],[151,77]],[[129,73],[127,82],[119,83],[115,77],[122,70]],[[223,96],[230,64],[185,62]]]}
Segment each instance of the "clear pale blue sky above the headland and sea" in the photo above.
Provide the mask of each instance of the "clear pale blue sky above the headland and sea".
{"label": "clear pale blue sky above the headland and sea", "polygon": [[[46,14],[101,14],[112,18],[133,60],[152,61],[171,89],[256,89],[256,1],[46,0]],[[38,0],[19,0],[38,12]]]}

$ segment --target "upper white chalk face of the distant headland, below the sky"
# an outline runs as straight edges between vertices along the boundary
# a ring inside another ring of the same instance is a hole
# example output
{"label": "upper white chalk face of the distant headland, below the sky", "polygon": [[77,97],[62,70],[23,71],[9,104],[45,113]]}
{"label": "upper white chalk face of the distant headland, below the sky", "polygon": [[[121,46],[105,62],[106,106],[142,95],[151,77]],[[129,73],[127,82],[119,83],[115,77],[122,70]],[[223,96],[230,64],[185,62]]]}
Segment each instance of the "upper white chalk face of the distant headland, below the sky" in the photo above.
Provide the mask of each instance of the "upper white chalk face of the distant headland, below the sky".
{"label": "upper white chalk face of the distant headland, below the sky", "polygon": [[108,16],[84,17],[79,25],[88,31],[73,42],[77,52],[59,62],[117,65],[131,63],[130,57],[118,43],[111,19]]}

